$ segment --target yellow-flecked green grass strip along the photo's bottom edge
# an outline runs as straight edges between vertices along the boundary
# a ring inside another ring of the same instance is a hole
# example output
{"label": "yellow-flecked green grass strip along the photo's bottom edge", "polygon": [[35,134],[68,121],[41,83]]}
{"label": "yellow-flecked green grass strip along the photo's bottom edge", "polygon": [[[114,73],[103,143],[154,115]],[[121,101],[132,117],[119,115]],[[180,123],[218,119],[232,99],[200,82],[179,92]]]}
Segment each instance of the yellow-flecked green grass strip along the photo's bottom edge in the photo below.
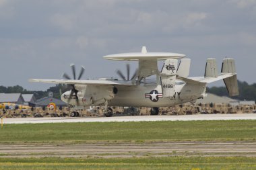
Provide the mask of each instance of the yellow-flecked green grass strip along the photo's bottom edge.
{"label": "yellow-flecked green grass strip along the photo's bottom edge", "polygon": [[0,169],[256,169],[255,157],[4,158]]}

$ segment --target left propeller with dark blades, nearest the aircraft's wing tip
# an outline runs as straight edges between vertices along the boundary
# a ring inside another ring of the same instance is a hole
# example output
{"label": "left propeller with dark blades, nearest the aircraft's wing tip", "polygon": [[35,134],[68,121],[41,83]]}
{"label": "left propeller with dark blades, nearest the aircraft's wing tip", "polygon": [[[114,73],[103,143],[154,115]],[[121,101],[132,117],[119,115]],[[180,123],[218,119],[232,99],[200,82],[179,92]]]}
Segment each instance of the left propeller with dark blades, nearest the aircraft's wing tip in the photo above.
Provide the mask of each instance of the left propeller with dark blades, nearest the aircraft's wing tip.
{"label": "left propeller with dark blades, nearest the aircraft's wing tip", "polygon": [[[71,64],[70,67],[71,67],[71,71],[72,71],[72,75],[73,75],[73,80],[75,80],[75,79],[76,79],[75,65],[74,65],[74,64]],[[84,69],[84,67],[82,66],[77,80],[81,79],[81,77],[84,75],[84,70],[85,70],[85,69]],[[67,75],[66,73],[63,73],[63,76],[62,76],[62,77],[63,77],[64,79],[71,80],[71,78],[69,77],[69,75]],[[69,98],[67,99],[67,102],[69,102],[69,101],[71,100],[71,97],[72,97],[72,96],[75,96],[75,103],[78,103],[78,96],[77,96],[78,90],[75,89],[75,84],[70,84],[69,86],[71,87],[71,93],[70,93],[70,95],[69,95]]]}

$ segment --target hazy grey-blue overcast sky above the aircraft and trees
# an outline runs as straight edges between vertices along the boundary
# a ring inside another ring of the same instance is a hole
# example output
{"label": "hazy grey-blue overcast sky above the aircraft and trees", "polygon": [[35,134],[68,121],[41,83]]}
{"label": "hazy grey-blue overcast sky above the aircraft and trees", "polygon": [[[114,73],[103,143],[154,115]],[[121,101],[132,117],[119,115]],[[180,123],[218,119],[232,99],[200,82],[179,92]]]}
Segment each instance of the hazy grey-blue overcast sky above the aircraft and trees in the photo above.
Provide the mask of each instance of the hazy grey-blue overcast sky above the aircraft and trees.
{"label": "hazy grey-blue overcast sky above the aircraft and trees", "polygon": [[254,83],[256,0],[0,0],[0,85],[45,90],[53,84],[28,79],[71,75],[71,62],[86,67],[84,79],[117,77],[127,62],[102,56],[141,46],[186,54],[191,76],[206,58],[220,68],[232,57],[238,79]]}

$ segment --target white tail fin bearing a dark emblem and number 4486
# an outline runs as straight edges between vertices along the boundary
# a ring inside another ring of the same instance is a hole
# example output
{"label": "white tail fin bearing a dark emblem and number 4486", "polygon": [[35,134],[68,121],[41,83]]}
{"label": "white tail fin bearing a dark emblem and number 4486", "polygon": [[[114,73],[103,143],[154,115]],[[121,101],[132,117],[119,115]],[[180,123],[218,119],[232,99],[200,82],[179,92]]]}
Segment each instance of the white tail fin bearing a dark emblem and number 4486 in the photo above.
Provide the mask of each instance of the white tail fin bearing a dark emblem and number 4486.
{"label": "white tail fin bearing a dark emblem and number 4486", "polygon": [[163,97],[171,97],[175,92],[174,87],[177,74],[177,65],[178,60],[175,59],[167,59],[164,62],[164,66],[162,67],[162,71],[160,73]]}

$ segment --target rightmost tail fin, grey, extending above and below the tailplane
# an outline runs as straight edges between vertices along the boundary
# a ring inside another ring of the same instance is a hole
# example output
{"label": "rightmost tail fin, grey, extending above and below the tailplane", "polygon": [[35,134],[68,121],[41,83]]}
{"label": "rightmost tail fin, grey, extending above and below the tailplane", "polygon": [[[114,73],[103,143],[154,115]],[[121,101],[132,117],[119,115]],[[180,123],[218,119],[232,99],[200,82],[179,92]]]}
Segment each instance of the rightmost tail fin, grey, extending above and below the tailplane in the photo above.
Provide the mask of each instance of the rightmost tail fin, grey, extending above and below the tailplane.
{"label": "rightmost tail fin, grey, extending above and below the tailplane", "polygon": [[236,77],[236,67],[233,58],[224,58],[222,62],[222,73],[234,74],[232,77],[223,79],[230,96],[239,95]]}

